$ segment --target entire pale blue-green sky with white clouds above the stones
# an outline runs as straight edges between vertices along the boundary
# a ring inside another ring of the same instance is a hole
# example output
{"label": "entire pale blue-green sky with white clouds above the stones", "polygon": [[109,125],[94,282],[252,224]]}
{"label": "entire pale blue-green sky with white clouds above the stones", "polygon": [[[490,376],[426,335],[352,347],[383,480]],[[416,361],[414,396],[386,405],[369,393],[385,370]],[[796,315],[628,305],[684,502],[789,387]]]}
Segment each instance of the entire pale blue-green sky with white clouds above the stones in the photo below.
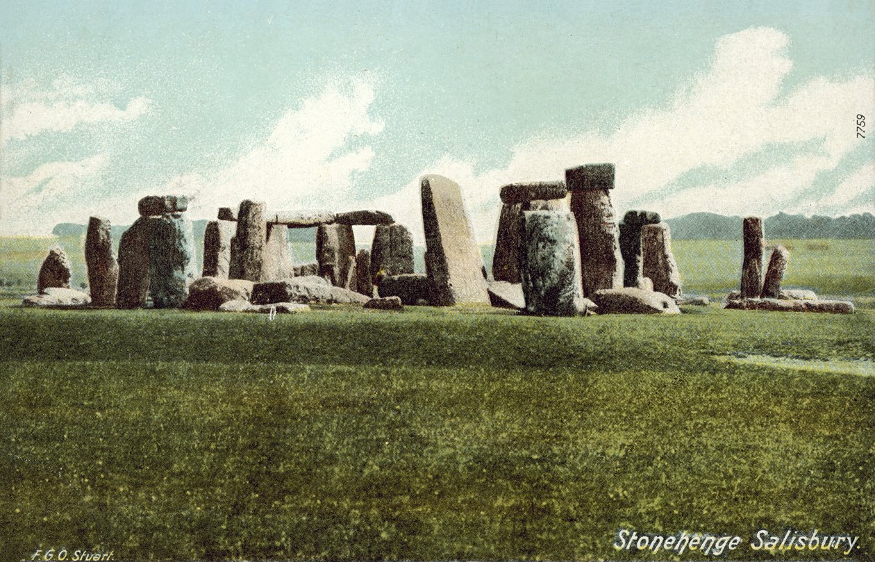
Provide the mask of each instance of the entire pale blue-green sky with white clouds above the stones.
{"label": "entire pale blue-green sky with white clouds above the stones", "polygon": [[[730,4],[730,5],[721,5]],[[376,208],[419,178],[491,242],[500,186],[616,165],[664,218],[875,213],[875,0],[0,0],[0,235]],[[865,138],[858,137],[865,116]]]}

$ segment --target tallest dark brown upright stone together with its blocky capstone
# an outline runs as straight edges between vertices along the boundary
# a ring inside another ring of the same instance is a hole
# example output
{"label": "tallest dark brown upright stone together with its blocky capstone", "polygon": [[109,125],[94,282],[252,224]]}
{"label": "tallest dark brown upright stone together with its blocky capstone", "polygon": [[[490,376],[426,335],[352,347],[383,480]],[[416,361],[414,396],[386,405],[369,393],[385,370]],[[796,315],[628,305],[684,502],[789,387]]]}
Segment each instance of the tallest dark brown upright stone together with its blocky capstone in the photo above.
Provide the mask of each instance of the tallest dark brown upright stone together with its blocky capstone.
{"label": "tallest dark brown upright stone together with its blocky capstone", "polygon": [[623,286],[623,256],[609,189],[613,164],[590,164],[565,171],[571,212],[577,219],[584,294]]}

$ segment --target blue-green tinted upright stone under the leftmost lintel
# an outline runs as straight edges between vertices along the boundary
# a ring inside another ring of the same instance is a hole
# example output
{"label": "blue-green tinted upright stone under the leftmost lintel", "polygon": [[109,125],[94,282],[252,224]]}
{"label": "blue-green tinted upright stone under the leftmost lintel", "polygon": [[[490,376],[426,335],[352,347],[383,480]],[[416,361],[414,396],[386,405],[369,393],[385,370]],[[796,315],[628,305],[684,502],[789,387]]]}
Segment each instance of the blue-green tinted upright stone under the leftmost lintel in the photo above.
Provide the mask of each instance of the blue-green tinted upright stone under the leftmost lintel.
{"label": "blue-green tinted upright stone under the leftmost lintel", "polygon": [[149,292],[156,308],[179,308],[188,298],[188,284],[197,277],[192,221],[165,214],[149,236]]}

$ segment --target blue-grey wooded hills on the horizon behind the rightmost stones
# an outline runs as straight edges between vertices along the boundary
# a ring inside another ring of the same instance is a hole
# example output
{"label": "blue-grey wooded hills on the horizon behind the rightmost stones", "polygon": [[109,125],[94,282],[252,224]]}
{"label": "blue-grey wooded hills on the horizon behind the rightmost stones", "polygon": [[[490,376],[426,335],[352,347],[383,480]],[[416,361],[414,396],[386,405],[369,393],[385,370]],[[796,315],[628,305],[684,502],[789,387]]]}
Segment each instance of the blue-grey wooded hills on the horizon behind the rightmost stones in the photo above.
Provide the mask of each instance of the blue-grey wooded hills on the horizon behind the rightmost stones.
{"label": "blue-grey wooded hills on the horizon behind the rightmost stones", "polygon": [[[713,213],[690,213],[666,221],[676,240],[741,240],[741,217]],[[875,215],[819,216],[779,213],[766,219],[766,238],[875,238]]]}

